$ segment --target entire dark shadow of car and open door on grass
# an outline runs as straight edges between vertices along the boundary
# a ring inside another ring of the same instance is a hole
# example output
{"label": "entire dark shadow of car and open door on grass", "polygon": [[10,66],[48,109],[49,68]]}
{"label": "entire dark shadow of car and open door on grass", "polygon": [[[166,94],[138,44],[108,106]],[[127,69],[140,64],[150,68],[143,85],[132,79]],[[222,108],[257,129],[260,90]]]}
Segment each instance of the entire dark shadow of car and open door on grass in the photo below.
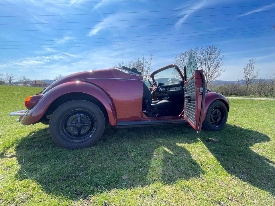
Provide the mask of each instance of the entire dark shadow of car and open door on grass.
{"label": "entire dark shadow of car and open door on grass", "polygon": [[270,138],[232,125],[221,132],[201,134],[179,125],[107,127],[95,145],[76,150],[55,144],[45,128],[30,133],[17,144],[16,156],[21,167],[15,177],[33,179],[45,192],[74,200],[156,181],[174,184],[204,173],[182,146],[198,142],[198,137],[228,173],[274,193],[274,168],[249,148]]}

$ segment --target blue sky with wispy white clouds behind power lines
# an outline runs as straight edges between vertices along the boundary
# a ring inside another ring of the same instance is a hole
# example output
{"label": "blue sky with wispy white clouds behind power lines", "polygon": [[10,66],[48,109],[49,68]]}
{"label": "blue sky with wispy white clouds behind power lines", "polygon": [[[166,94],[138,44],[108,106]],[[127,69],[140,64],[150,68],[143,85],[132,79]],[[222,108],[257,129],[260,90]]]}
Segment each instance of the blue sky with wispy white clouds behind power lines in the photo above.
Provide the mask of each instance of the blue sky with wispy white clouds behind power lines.
{"label": "blue sky with wispy white clouds behind power lines", "polygon": [[[16,3],[68,4],[10,5]],[[275,1],[41,0],[38,2],[34,0],[0,0],[0,4],[2,4],[0,9],[0,24],[2,24],[0,28],[1,73],[12,72],[17,74],[18,77],[27,76],[31,79],[53,79],[58,74],[68,75],[85,70],[111,68],[122,60],[123,62],[127,62],[131,60],[131,58],[142,58],[142,55],[149,59],[152,50],[154,50],[152,66],[153,70],[156,70],[160,67],[173,63],[174,56],[185,49],[210,44],[218,44],[221,48],[222,55],[224,56],[224,68],[226,69],[226,72],[219,78],[219,80],[237,80],[238,78],[241,78],[243,75],[242,68],[250,58],[256,58],[255,67],[256,69],[260,69],[261,78],[268,78],[275,73],[275,31],[272,31],[272,25],[275,25]],[[246,5],[262,6],[238,7]],[[216,7],[233,8],[202,9]],[[182,9],[197,10],[174,11]],[[123,13],[160,10],[173,11]],[[119,12],[120,14],[114,14]],[[99,14],[60,15],[85,13]],[[24,15],[31,16],[22,17]],[[117,21],[152,18],[153,20]],[[231,19],[244,20],[224,21]],[[84,23],[84,21],[86,21],[86,23]],[[194,23],[201,21],[217,22]],[[53,22],[80,23],[49,24]],[[158,26],[135,27],[141,25]],[[225,35],[227,36],[219,37]],[[145,43],[154,41],[155,43]],[[28,49],[19,49],[23,47]]]}

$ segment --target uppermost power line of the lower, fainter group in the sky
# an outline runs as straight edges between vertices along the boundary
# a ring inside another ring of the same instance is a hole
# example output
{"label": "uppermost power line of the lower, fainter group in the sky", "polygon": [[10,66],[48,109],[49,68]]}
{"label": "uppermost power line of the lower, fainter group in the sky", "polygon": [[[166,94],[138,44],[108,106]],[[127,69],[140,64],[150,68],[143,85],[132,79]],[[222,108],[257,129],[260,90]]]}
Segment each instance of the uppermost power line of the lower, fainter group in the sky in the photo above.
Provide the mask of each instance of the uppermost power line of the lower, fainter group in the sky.
{"label": "uppermost power line of the lower, fainter group in the sky", "polygon": [[[272,26],[272,25],[266,25],[266,26]],[[266,26],[256,26],[256,27],[266,27]],[[251,29],[251,28],[256,28],[256,27],[244,27],[244,28],[238,28],[238,29]],[[148,37],[148,36],[164,36],[164,35],[190,34],[190,33],[202,33],[202,32],[213,32],[213,31],[227,31],[227,30],[236,30],[236,29],[219,29],[219,30],[212,30],[212,31],[195,31],[195,32],[186,32],[186,33],[154,34],[154,35],[126,36],[126,37],[124,36],[124,37],[101,37],[101,38],[85,38],[85,39],[53,39],[53,40],[0,41],[0,42],[72,41],[72,40],[75,41],[75,40],[91,40],[91,39],[114,39],[114,38],[131,38],[131,37]],[[260,29],[260,30],[265,30],[265,29]],[[252,30],[252,31],[257,31],[257,30]],[[237,33],[237,32],[248,32],[248,31],[236,31],[236,32],[233,32],[233,33]]]}

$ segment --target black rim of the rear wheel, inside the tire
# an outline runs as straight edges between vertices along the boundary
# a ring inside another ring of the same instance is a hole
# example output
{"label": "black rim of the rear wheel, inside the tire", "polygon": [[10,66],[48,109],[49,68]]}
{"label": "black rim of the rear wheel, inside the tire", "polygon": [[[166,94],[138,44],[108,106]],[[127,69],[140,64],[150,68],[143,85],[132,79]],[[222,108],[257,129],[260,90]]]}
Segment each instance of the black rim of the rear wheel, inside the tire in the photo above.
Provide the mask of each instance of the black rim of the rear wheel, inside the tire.
{"label": "black rim of the rear wheel, inside the tire", "polygon": [[77,109],[64,114],[60,132],[70,142],[83,142],[93,136],[97,128],[95,116],[88,110]]}

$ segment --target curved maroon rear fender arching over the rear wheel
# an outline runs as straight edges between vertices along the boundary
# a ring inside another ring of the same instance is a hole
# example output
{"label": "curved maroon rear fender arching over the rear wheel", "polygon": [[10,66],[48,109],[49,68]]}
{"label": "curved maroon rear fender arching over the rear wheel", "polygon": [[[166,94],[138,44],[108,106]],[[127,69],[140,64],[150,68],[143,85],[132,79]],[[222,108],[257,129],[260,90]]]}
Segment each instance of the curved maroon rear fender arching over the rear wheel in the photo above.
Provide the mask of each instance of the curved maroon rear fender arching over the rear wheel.
{"label": "curved maroon rear fender arching over the rear wheel", "polygon": [[107,112],[109,124],[112,126],[117,125],[117,114],[111,97],[99,86],[92,83],[79,81],[60,84],[43,94],[34,107],[24,115],[21,120],[21,124],[35,124],[39,122],[55,100],[63,95],[70,95],[70,93],[72,94],[72,99],[74,99],[74,94],[82,93],[98,100]]}

